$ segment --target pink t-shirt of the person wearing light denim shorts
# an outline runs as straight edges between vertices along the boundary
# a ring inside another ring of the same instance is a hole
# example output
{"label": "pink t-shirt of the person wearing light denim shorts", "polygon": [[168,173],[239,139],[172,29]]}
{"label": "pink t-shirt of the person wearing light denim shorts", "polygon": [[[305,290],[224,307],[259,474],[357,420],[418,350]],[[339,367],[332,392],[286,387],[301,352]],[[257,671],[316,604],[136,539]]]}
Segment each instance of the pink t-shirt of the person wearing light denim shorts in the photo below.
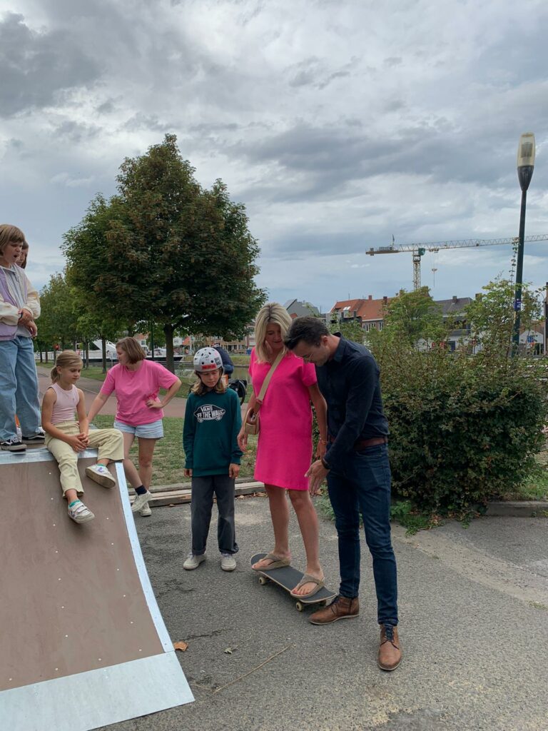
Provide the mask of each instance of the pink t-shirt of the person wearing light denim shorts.
{"label": "pink t-shirt of the person wearing light denim shorts", "polygon": [[160,388],[170,388],[177,376],[154,360],[141,360],[137,371],[130,371],[118,363],[110,368],[101,387],[101,393],[116,392],[116,419],[124,424],[139,426],[151,424],[164,416],[162,409],[149,409],[146,402],[158,398]]}

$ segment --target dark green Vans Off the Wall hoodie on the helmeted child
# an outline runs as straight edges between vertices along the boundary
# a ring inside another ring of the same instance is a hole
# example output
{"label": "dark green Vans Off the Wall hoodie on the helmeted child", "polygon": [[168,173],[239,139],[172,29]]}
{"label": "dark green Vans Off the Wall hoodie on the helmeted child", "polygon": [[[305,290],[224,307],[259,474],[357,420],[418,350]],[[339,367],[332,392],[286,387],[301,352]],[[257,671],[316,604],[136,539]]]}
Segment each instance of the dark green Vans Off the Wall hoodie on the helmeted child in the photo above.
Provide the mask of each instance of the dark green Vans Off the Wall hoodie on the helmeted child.
{"label": "dark green Vans Off the Wall hoodie on the helmeted child", "polygon": [[240,464],[241,425],[240,401],[232,389],[189,394],[183,427],[185,469],[191,469],[194,477],[228,474],[229,464]]}

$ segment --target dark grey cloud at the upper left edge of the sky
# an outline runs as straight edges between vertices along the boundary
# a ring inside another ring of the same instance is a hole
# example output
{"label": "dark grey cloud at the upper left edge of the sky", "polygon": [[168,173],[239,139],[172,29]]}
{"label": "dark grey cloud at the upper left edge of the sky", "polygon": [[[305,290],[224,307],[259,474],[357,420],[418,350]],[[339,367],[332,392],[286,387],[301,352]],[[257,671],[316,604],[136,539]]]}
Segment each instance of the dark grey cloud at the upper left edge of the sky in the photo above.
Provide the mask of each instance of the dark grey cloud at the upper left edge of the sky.
{"label": "dark grey cloud at the upper left edge of the sky", "polygon": [[0,22],[0,74],[0,115],[9,117],[94,82],[99,67],[68,31],[33,31],[23,15],[9,13]]}

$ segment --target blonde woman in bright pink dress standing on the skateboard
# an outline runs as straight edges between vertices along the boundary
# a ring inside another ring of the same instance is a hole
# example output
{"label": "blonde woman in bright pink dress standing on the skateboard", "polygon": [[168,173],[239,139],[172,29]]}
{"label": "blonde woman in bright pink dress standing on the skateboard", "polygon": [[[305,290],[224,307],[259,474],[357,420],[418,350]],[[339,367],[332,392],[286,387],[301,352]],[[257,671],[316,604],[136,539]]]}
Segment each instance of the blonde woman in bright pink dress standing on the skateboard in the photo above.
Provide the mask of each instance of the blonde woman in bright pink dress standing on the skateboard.
{"label": "blonde woman in bright pink dress standing on the skateboard", "polygon": [[[327,446],[327,407],[316,381],[316,368],[286,351],[283,338],[292,319],[286,308],[268,303],[256,317],[255,342],[251,352],[249,373],[253,395],[248,414],[257,404],[257,396],[270,367],[284,351],[267,387],[260,406],[259,444],[255,463],[255,479],[265,483],[274,529],[274,548],[254,569],[289,566],[289,504],[292,502],[305,544],[306,568],[302,581],[292,591],[294,596],[312,596],[323,586],[324,574],[319,562],[318,516],[308,491],[305,472],[312,457],[312,409],[320,433],[319,456]],[[244,422],[245,424],[245,422]],[[238,435],[242,450],[247,447],[244,425]]]}

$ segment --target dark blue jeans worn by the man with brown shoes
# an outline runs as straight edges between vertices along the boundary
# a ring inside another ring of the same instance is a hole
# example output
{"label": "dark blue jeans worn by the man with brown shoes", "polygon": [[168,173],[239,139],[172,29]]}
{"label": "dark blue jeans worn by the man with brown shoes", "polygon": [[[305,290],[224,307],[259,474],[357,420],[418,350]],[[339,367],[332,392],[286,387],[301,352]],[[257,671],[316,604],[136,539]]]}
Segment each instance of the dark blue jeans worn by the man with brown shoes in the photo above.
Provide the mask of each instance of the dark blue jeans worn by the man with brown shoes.
{"label": "dark blue jeans worn by the man with brown shoes", "polygon": [[373,557],[378,623],[397,624],[396,559],[390,538],[390,466],[386,444],[350,452],[340,471],[327,475],[338,534],[339,594],[359,592],[359,514]]}

